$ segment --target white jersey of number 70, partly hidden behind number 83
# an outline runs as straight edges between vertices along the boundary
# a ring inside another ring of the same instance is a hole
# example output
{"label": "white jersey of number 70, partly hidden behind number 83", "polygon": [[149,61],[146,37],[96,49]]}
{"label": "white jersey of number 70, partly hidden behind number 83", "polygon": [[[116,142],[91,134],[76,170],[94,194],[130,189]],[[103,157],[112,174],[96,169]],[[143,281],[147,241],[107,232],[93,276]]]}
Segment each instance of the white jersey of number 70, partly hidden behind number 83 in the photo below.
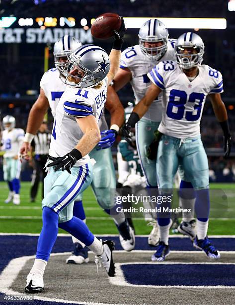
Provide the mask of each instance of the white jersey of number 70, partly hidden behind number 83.
{"label": "white jersey of number 70, partly hidden behind number 83", "polygon": [[[167,42],[167,51],[160,58],[160,61],[175,60],[174,45],[176,39],[169,39]],[[122,52],[120,68],[129,68],[132,73],[131,85],[135,94],[136,104],[145,96],[147,88],[151,82],[147,76],[148,72],[156,66],[159,61],[150,60],[145,56],[139,44],[129,47]],[[150,106],[144,118],[159,122],[161,120],[161,95]]]}

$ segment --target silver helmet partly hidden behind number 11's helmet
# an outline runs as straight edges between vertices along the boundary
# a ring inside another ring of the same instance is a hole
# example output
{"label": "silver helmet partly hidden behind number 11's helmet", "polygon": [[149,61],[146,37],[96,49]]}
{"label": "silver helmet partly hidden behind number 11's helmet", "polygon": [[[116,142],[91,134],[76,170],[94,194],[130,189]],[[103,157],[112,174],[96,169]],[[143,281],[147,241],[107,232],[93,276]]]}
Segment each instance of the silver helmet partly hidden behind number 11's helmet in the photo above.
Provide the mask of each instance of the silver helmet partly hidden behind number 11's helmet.
{"label": "silver helmet partly hidden behind number 11's helmet", "polygon": [[63,62],[59,61],[60,57],[67,57],[71,52],[75,51],[81,42],[73,36],[65,35],[59,38],[53,48],[53,55],[56,68],[60,71]]}

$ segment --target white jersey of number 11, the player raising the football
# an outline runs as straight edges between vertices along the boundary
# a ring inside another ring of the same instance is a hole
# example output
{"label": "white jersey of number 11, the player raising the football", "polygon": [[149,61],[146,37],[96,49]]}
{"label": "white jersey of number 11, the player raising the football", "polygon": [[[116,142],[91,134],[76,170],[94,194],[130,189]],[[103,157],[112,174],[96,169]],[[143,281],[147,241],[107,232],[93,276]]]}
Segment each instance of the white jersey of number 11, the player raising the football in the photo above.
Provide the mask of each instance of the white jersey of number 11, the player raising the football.
{"label": "white jersey of number 11, the player raising the football", "polygon": [[[71,152],[83,136],[75,117],[94,115],[99,122],[107,96],[107,81],[106,77],[100,89],[67,87],[56,108],[49,150],[51,156],[64,156]],[[87,159],[88,154],[79,159],[76,166],[86,164]]]}

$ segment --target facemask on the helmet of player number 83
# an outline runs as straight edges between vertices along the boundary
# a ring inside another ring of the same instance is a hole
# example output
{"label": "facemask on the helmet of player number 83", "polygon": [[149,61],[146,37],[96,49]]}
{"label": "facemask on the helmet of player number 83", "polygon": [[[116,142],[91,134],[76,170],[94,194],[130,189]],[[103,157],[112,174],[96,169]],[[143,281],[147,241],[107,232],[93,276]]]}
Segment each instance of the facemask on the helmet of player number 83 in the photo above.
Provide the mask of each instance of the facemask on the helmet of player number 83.
{"label": "facemask on the helmet of player number 83", "polygon": [[[183,53],[191,49],[191,54]],[[195,53],[196,50],[196,53]],[[188,70],[200,66],[203,61],[204,48],[197,45],[177,45],[175,47],[176,61],[182,69]],[[193,53],[193,54],[192,54]]]}

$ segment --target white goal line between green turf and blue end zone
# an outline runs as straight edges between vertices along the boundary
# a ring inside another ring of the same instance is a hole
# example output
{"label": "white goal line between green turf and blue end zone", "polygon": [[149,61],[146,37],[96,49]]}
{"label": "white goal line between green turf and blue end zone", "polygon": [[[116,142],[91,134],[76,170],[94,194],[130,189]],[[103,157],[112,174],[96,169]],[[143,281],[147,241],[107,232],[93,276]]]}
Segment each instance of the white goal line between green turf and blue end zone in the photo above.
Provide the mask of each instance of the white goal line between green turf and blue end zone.
{"label": "white goal line between green turf and blue end zone", "polygon": [[[18,236],[18,235],[24,235],[24,236],[39,236],[39,233],[2,233],[0,232],[0,236]],[[61,237],[71,237],[71,235],[65,234],[65,233],[59,233],[57,236],[61,236]],[[100,236],[100,237],[118,237],[118,234],[95,234],[95,236]],[[135,235],[135,237],[149,237],[149,235],[144,235],[144,234],[140,234],[140,235]],[[185,235],[181,235],[181,234],[174,234],[174,235],[169,235],[170,238],[188,238]],[[235,235],[209,235],[209,238],[235,238]]]}

